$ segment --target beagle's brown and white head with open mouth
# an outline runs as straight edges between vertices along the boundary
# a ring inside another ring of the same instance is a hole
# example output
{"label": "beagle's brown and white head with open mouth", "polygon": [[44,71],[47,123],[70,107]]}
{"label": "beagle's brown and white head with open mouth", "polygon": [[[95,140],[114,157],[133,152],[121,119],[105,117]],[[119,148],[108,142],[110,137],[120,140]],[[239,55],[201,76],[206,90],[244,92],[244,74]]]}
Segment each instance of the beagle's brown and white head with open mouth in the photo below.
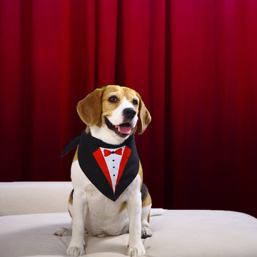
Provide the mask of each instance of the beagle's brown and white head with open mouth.
{"label": "beagle's brown and white head with open mouth", "polygon": [[96,89],[79,101],[77,111],[89,126],[92,136],[106,143],[119,144],[136,130],[145,131],[151,116],[141,97],[133,89],[123,86],[106,86]]}

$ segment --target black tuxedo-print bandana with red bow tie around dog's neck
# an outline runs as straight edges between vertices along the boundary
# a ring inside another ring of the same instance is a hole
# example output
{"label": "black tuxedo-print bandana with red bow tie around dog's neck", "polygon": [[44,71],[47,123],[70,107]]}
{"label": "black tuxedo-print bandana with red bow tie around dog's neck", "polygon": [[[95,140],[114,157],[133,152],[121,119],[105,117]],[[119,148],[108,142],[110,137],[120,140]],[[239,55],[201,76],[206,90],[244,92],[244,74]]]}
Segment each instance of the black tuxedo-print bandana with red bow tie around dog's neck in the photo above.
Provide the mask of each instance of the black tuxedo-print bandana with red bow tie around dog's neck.
{"label": "black tuxedo-print bandana with red bow tie around dog's neck", "polygon": [[121,145],[111,145],[83,131],[81,136],[71,140],[61,156],[77,145],[81,170],[101,193],[116,201],[138,174],[134,135]]}

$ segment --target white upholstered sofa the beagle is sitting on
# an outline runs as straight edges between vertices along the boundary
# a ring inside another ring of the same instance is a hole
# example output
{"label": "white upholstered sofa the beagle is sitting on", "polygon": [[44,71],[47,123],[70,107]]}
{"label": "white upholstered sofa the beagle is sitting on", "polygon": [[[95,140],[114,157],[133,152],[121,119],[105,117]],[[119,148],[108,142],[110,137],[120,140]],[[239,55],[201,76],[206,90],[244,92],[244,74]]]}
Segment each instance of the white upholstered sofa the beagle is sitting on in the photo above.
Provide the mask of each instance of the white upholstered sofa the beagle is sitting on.
{"label": "white upholstered sofa the beagle is sitting on", "polygon": [[[66,256],[70,236],[69,182],[0,183],[0,256]],[[143,239],[148,257],[256,257],[257,219],[233,211],[163,210],[151,217],[153,236]],[[126,256],[128,234],[85,235],[89,257]]]}

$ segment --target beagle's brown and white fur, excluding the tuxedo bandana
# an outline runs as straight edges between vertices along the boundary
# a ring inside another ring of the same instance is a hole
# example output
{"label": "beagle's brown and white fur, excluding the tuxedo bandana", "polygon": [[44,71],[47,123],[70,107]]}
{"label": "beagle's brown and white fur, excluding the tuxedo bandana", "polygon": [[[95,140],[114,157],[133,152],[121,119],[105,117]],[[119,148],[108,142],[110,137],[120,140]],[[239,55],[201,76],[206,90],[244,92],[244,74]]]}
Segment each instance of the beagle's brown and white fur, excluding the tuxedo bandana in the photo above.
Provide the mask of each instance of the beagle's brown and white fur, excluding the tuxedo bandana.
{"label": "beagle's brown and white fur, excluding the tuxedo bandana", "polygon": [[[79,102],[77,111],[87,125],[86,133],[112,145],[119,145],[129,138],[136,131],[138,119],[139,134],[151,122],[151,116],[139,94],[121,86],[96,89]],[[122,126],[126,126],[126,133],[121,133],[124,131]],[[67,255],[80,256],[85,253],[84,233],[104,237],[128,231],[128,255],[144,255],[146,250],[141,237],[152,235],[148,223],[151,196],[145,186],[142,188],[141,163],[138,175],[116,201],[104,196],[85,176],[79,166],[77,151],[71,166],[71,180],[74,187],[69,198],[72,230],[59,228],[55,233],[58,236],[71,235]]]}

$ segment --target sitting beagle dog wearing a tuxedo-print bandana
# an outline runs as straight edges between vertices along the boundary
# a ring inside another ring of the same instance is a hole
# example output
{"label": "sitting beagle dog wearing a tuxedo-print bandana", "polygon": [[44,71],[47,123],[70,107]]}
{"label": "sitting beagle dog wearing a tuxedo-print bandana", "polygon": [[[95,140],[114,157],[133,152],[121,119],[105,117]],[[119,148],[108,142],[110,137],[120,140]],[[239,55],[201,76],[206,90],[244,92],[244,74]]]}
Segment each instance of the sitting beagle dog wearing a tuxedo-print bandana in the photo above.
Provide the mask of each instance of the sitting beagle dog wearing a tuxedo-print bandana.
{"label": "sitting beagle dog wearing a tuxedo-print bandana", "polygon": [[138,119],[141,134],[151,116],[136,91],[116,85],[96,89],[79,101],[77,111],[86,130],[71,143],[78,145],[71,165],[72,228],[59,228],[55,235],[71,235],[66,253],[81,256],[84,233],[99,237],[129,233],[128,256],[144,255],[141,238],[152,236],[151,196],[143,183],[133,134]]}

